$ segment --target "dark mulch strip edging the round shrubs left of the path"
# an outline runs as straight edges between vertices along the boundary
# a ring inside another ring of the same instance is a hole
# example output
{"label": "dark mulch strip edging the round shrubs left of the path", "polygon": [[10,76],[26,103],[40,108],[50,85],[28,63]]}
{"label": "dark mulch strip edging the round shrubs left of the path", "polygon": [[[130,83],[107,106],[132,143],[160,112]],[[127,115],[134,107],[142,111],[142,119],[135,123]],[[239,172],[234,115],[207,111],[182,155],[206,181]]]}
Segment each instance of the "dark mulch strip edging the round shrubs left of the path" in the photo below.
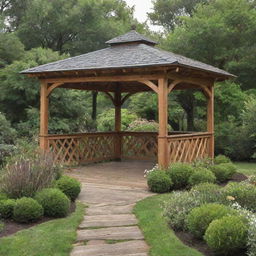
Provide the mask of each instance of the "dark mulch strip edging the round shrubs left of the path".
{"label": "dark mulch strip edging the round shrubs left of the path", "polygon": [[[76,209],[76,204],[74,202],[71,203],[70,205],[70,210],[69,210],[69,214],[73,213]],[[31,228],[33,226],[39,225],[41,223],[50,221],[50,220],[54,220],[56,218],[49,218],[49,217],[43,217],[42,219],[40,219],[37,222],[34,223],[27,223],[27,224],[21,224],[21,223],[17,223],[13,220],[4,220],[4,230],[2,232],[0,232],[0,238],[4,237],[4,236],[9,236],[12,234],[15,234],[16,232],[23,230],[23,229],[27,229],[27,228]]]}

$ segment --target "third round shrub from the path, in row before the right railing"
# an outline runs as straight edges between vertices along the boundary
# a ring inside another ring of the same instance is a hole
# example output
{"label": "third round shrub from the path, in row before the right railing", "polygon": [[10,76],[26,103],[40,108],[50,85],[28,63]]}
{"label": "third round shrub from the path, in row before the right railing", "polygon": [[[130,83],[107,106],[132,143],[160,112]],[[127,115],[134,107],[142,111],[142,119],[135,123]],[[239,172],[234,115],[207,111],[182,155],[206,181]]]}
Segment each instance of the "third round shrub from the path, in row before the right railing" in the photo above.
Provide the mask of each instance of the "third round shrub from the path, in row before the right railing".
{"label": "third round shrub from the path, in row before the right railing", "polygon": [[189,177],[189,185],[194,186],[200,183],[214,183],[216,181],[215,175],[206,168],[197,168],[194,173]]}

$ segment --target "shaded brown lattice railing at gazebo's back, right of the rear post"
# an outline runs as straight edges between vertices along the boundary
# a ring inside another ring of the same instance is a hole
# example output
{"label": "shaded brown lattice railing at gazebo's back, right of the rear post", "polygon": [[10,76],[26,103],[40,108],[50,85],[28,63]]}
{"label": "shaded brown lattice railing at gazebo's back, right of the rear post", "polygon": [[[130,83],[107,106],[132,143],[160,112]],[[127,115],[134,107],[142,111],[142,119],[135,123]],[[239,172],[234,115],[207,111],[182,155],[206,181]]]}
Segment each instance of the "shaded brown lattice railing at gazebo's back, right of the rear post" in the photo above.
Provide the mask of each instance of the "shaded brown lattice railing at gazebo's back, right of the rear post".
{"label": "shaded brown lattice railing at gazebo's back, right of the rear post", "polygon": [[122,132],[122,158],[155,160],[157,157],[156,132]]}

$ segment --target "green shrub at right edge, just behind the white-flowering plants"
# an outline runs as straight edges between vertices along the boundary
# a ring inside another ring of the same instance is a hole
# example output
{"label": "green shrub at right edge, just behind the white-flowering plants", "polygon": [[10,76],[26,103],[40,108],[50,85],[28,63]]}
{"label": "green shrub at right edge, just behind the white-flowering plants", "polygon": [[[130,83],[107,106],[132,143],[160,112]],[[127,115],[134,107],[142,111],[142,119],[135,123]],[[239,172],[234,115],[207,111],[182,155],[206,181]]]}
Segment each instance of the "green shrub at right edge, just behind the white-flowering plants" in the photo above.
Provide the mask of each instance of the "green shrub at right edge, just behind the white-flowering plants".
{"label": "green shrub at right edge, just behind the white-flowering plants", "polygon": [[256,211],[256,187],[250,183],[230,182],[224,189],[226,196],[232,196],[242,207]]}

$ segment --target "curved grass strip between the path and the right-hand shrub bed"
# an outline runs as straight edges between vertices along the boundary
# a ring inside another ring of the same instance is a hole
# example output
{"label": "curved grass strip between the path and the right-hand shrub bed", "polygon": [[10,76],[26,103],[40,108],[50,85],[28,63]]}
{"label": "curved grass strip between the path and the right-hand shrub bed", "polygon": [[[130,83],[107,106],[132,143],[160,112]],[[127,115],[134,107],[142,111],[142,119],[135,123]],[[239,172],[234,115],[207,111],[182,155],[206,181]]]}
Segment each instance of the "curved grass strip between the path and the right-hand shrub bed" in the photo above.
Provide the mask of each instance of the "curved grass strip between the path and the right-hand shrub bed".
{"label": "curved grass strip between the path and the right-hand shrub bed", "polygon": [[156,195],[138,202],[134,213],[139,220],[150,256],[203,256],[200,252],[184,245],[168,227],[162,216],[161,203],[170,195]]}

